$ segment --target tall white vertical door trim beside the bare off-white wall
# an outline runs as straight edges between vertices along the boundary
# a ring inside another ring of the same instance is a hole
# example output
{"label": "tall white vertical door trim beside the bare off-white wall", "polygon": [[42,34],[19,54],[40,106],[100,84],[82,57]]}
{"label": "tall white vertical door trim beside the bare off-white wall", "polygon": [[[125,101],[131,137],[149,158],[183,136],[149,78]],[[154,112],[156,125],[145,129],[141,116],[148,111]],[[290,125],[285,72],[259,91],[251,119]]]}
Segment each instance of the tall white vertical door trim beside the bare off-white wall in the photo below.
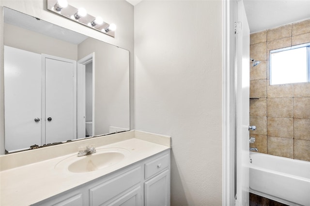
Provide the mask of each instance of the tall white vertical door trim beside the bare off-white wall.
{"label": "tall white vertical door trim beside the bare off-white wall", "polygon": [[223,0],[223,146],[222,205],[234,205],[234,7],[235,1]]}

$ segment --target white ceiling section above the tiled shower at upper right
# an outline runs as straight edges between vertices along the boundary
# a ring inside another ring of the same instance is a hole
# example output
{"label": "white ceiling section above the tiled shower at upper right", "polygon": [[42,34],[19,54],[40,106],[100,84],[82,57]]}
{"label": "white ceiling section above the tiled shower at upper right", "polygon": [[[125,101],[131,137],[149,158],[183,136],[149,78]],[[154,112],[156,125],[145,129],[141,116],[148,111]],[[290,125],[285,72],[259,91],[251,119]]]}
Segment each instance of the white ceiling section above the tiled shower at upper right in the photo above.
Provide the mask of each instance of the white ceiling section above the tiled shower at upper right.
{"label": "white ceiling section above the tiled shower at upper right", "polygon": [[310,18],[310,0],[244,0],[250,33]]}

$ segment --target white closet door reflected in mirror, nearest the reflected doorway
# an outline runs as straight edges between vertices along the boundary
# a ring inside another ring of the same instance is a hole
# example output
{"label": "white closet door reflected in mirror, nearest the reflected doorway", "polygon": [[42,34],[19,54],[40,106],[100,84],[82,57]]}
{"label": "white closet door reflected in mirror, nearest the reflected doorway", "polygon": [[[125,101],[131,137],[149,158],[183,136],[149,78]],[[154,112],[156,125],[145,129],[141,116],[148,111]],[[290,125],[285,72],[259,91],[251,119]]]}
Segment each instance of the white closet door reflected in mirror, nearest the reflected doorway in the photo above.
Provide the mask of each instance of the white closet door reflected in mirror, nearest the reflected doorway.
{"label": "white closet door reflected in mirror, nearest the reflected doorway", "polygon": [[77,138],[74,60],[44,56],[46,143]]}

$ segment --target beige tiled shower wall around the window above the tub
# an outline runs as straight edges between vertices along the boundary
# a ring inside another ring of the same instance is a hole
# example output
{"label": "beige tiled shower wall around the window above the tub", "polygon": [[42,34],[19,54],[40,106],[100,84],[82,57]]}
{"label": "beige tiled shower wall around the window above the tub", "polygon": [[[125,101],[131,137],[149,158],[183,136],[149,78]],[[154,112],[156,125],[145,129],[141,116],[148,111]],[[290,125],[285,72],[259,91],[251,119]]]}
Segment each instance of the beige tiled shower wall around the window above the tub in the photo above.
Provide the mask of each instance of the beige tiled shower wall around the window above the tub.
{"label": "beige tiled shower wall around the window above the tub", "polygon": [[310,161],[310,83],[270,85],[269,51],[310,42],[310,19],[250,35],[250,131],[259,152]]}

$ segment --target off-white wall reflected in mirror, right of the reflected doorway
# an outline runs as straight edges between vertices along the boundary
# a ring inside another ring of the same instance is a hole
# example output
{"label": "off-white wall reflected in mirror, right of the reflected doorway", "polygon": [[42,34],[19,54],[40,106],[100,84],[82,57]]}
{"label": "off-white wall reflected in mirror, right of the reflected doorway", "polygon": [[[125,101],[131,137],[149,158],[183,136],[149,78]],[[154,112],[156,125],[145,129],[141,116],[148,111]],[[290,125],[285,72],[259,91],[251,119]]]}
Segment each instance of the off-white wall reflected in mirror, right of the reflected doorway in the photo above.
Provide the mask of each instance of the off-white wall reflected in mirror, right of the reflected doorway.
{"label": "off-white wall reflected in mirror, right of the reflected doorway", "polygon": [[[129,130],[129,52],[87,38],[78,44],[78,59],[94,53],[94,135],[109,127]],[[98,95],[99,93],[99,95]]]}

